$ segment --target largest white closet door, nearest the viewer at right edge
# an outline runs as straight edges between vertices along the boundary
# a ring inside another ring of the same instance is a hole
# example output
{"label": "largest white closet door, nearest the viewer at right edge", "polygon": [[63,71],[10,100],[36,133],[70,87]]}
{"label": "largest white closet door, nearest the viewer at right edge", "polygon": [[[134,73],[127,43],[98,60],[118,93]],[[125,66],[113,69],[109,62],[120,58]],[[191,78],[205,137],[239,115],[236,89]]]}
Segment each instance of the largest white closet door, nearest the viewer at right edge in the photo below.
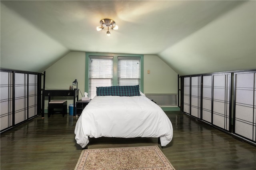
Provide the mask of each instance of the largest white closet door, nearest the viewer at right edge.
{"label": "largest white closet door, nearest the viewer at right edge", "polygon": [[234,73],[234,133],[256,141],[256,73]]}

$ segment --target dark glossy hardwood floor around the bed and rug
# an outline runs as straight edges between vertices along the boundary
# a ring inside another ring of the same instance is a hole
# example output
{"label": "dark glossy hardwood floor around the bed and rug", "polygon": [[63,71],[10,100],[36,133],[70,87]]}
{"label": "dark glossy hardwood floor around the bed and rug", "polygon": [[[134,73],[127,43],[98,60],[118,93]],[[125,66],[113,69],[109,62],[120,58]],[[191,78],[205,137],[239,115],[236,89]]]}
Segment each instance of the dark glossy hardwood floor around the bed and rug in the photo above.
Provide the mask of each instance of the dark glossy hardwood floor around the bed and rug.
{"label": "dark glossy hardwood floor around the bed and rug", "polygon": [[[188,117],[166,112],[174,138],[160,148],[176,170],[256,169],[256,147]],[[1,134],[1,170],[74,169],[82,148],[74,140],[77,118],[55,114],[36,117]],[[157,138],[90,139],[90,148],[158,145]],[[159,146],[159,145],[158,145]]]}

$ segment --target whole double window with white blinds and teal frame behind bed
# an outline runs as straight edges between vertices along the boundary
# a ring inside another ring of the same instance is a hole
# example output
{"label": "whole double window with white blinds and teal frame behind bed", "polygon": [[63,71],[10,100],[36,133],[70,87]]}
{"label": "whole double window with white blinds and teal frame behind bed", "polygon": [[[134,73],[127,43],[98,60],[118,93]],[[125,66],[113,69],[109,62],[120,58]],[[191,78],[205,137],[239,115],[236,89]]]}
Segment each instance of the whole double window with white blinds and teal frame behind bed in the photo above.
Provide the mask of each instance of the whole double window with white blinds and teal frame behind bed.
{"label": "whole double window with white blinds and teal frame behind bed", "polygon": [[85,76],[90,99],[102,86],[140,85],[143,92],[143,55],[86,53]]}

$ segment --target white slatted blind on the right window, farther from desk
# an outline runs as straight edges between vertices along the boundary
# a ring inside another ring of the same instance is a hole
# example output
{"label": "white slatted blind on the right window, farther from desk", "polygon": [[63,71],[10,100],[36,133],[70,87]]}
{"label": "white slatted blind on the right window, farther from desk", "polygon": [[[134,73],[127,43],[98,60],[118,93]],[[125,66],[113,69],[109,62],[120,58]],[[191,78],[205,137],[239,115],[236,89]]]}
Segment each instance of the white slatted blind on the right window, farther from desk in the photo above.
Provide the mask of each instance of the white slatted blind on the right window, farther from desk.
{"label": "white slatted blind on the right window, farther from desk", "polygon": [[118,85],[140,85],[140,57],[118,57]]}

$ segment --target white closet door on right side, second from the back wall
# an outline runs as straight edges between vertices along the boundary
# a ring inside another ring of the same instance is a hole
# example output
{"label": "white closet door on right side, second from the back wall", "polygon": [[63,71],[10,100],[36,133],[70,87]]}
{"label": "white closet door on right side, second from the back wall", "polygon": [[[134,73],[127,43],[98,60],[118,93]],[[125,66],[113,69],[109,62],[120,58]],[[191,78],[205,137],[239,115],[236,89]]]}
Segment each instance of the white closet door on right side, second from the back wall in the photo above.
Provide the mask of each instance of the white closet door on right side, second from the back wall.
{"label": "white closet door on right side, second from the back wall", "polygon": [[191,77],[191,115],[201,118],[201,76]]}

